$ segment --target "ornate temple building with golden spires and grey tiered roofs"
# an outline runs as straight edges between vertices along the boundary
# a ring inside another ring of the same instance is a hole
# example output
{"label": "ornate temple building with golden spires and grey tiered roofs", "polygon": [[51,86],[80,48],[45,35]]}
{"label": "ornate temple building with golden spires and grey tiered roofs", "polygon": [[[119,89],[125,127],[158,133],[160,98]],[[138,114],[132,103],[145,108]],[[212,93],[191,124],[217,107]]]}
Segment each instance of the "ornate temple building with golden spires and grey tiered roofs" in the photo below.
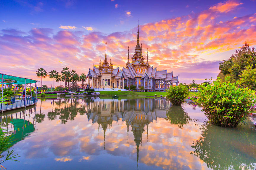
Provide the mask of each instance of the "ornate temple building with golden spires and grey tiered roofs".
{"label": "ornate temple building with golden spires and grey tiered roofs", "polygon": [[[142,45],[141,45],[142,46]],[[142,55],[142,49],[139,42],[139,24],[138,24],[138,35],[137,45],[131,62],[129,58],[129,47],[128,47],[128,60],[125,68],[120,69],[119,67],[113,68],[113,58],[110,63],[107,61],[107,42],[105,59],[101,63],[99,58],[99,67],[93,66],[93,69],[89,68],[87,79],[88,84],[93,88],[118,88],[123,89],[125,86],[130,87],[131,85],[136,86],[139,90],[142,86],[145,91],[164,91],[169,89],[173,84],[178,85],[178,76],[173,76],[173,72],[167,70],[157,71],[157,68],[153,68],[149,65],[148,53],[146,63]]]}

